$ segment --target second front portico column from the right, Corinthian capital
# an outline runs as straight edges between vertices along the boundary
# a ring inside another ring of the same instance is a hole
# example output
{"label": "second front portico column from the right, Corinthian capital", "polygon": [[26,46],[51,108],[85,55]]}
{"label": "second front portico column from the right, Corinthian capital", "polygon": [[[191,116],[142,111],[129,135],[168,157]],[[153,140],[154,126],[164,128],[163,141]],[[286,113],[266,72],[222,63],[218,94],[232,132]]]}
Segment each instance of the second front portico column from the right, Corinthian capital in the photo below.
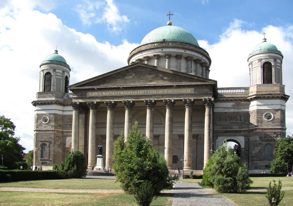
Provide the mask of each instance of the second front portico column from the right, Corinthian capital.
{"label": "second front portico column from the right, Corinthian capital", "polygon": [[183,99],[185,106],[185,127],[184,127],[184,169],[192,169],[192,106],[194,99]]}

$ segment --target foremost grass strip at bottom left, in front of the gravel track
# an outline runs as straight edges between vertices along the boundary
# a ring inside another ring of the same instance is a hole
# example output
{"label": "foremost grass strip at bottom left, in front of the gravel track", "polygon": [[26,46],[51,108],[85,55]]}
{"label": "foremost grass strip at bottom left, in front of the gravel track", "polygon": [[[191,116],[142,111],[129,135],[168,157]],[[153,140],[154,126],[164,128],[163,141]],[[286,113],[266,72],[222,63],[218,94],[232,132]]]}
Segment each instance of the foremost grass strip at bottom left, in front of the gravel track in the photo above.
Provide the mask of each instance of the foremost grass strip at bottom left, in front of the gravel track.
{"label": "foremost grass strip at bottom left, in front of the gravel track", "polygon": [[[125,193],[46,193],[0,191],[1,205],[137,205],[132,195]],[[172,205],[172,195],[158,196],[151,205]]]}

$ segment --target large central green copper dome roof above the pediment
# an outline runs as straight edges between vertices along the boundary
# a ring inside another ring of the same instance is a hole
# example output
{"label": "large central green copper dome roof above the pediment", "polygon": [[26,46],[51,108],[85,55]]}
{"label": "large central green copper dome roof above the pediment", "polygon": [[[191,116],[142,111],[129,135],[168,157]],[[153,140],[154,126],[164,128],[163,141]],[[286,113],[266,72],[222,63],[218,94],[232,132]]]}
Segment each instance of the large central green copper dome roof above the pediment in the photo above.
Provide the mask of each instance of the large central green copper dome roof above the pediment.
{"label": "large central green copper dome roof above the pediment", "polygon": [[152,30],[142,39],[142,42],[139,44],[139,46],[162,41],[182,42],[199,47],[196,39],[192,34],[190,34],[185,29],[171,25]]}

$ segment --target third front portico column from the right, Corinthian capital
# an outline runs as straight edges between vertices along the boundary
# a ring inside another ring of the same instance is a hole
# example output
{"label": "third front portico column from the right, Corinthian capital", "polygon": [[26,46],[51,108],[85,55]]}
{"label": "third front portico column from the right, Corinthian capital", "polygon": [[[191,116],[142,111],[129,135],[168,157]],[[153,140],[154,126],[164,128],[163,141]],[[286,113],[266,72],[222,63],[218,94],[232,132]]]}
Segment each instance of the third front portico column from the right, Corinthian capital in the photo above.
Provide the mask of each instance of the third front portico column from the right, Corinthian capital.
{"label": "third front portico column from the right, Corinthian capital", "polygon": [[173,106],[175,100],[164,99],[166,107],[166,125],[165,125],[165,159],[168,169],[173,168]]}

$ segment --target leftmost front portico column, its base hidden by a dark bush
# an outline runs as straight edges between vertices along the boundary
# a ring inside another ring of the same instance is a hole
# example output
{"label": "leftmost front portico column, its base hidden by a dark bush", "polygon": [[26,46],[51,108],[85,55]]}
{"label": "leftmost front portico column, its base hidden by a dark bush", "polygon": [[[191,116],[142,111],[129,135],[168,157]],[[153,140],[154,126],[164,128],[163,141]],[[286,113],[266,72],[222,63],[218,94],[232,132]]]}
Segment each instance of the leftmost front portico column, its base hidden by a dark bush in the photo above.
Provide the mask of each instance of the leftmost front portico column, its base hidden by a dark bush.
{"label": "leftmost front portico column, its base hidden by a dark bush", "polygon": [[72,117],[72,139],[71,139],[71,149],[76,151],[79,149],[79,102],[71,102],[73,109]]}

